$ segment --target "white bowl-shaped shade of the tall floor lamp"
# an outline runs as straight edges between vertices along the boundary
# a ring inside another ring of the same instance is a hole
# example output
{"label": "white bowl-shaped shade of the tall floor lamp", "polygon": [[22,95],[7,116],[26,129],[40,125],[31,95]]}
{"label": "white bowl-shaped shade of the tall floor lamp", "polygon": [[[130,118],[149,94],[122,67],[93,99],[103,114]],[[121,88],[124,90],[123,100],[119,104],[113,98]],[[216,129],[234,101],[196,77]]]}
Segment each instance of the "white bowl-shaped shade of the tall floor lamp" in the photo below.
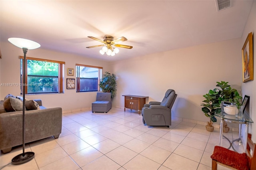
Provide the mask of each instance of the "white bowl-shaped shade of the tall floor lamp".
{"label": "white bowl-shaped shade of the tall floor lamp", "polygon": [[41,46],[37,42],[24,38],[8,38],[8,41],[19,48],[36,49]]}

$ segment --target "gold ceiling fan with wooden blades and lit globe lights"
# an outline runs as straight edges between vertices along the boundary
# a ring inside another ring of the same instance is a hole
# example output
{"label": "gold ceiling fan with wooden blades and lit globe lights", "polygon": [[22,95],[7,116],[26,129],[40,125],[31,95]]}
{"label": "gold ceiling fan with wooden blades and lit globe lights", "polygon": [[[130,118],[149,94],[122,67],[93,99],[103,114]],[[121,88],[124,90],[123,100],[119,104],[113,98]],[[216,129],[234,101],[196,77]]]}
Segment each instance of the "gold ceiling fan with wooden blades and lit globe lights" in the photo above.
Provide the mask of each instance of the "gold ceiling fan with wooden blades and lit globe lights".
{"label": "gold ceiling fan with wooden blades and lit globe lights", "polygon": [[86,48],[100,47],[100,46],[104,46],[106,44],[106,46],[102,47],[102,49],[100,50],[100,53],[102,55],[105,52],[106,52],[107,55],[112,55],[112,56],[115,55],[116,53],[118,53],[119,49],[112,47],[112,45],[115,46],[115,47],[122,47],[122,48],[132,49],[132,46],[130,46],[130,45],[117,44],[119,42],[127,41],[127,38],[125,38],[125,37],[120,37],[120,38],[117,38],[117,39],[114,40],[114,37],[106,36],[103,41],[98,39],[98,38],[92,37],[92,36],[88,36],[88,38],[92,38],[93,40],[102,42],[104,44],[89,46],[89,47],[86,47]]}

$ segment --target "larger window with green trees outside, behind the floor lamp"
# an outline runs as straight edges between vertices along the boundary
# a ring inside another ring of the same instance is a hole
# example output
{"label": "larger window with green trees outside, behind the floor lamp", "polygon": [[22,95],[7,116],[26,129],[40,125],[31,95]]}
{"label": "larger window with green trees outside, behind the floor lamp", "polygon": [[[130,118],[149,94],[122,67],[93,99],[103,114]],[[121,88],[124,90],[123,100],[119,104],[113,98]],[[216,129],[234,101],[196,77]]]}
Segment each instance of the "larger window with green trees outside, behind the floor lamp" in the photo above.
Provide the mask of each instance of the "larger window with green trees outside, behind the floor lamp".
{"label": "larger window with green trees outside, behind the floor lamp", "polygon": [[[20,56],[20,82],[24,57]],[[26,57],[25,94],[63,93],[65,62]]]}

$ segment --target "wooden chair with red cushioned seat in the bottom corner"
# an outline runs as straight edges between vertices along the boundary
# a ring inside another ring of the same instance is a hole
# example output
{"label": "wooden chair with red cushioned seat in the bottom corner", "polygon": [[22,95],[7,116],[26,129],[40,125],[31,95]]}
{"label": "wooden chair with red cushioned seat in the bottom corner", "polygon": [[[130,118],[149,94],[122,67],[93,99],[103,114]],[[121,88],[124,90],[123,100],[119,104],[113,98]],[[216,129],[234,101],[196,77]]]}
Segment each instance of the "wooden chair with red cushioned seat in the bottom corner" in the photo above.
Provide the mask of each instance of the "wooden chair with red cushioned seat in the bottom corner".
{"label": "wooden chair with red cushioned seat in the bottom corner", "polygon": [[221,146],[215,146],[212,158],[212,170],[217,170],[217,164],[234,170],[256,170],[256,147],[248,134],[246,153],[238,153]]}

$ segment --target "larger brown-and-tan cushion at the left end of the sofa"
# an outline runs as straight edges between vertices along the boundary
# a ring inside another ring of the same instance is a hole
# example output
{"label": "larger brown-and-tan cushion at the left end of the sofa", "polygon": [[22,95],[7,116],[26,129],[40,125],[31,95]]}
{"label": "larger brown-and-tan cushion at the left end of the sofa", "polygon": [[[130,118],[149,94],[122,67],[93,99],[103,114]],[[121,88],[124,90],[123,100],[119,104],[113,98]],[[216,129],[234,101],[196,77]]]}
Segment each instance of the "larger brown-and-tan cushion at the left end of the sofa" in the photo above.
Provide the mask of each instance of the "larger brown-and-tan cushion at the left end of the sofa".
{"label": "larger brown-and-tan cushion at the left end of the sofa", "polygon": [[20,99],[8,97],[6,100],[4,100],[4,109],[7,112],[22,111],[22,106],[22,101]]}

